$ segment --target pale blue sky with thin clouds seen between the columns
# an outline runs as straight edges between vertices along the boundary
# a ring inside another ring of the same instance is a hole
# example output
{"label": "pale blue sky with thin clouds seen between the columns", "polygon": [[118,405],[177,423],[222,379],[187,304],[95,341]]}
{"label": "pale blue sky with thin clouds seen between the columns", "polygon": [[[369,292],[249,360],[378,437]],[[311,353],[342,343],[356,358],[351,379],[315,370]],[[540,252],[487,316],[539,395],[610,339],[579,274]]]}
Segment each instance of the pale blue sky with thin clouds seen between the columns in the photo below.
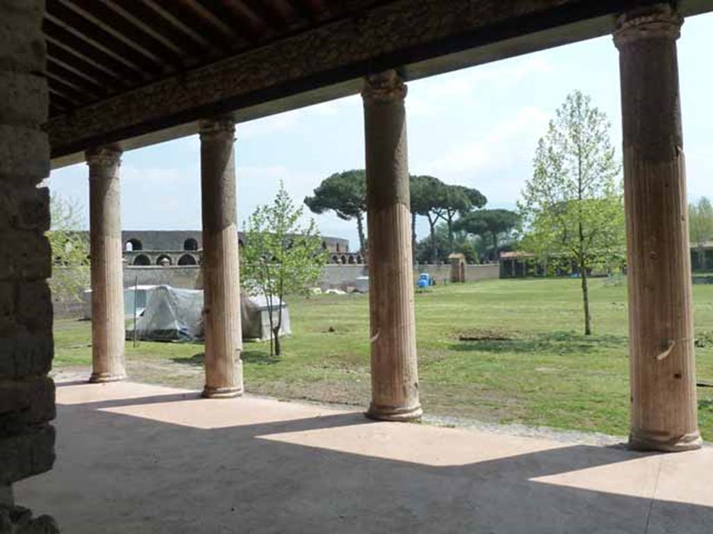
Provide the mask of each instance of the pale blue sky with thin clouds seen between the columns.
{"label": "pale blue sky with thin clouds seen between the columns", "polygon": [[[713,14],[686,20],[679,40],[684,150],[689,199],[713,197]],[[575,89],[592,96],[612,123],[620,155],[618,53],[610,36],[458,70],[409,83],[406,98],[409,171],[476,187],[488,207],[513,208],[538,138]],[[364,167],[361,98],[353,96],[237,125],[239,224],[269,202],[279,180],[301,202],[324,177]],[[200,229],[198,137],[123,155],[123,229]],[[83,206],[85,164],[52,172],[50,187]],[[324,235],[357,243],[356,225],[316,216]],[[426,235],[419,223],[419,239]]]}

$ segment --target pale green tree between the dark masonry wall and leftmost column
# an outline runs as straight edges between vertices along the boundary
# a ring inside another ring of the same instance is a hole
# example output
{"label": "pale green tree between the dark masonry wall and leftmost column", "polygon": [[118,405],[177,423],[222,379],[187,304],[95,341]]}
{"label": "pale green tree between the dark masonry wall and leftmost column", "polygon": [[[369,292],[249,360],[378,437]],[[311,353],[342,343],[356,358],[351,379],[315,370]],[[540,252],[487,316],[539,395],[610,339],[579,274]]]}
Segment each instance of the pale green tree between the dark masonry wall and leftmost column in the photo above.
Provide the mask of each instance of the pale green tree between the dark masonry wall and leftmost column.
{"label": "pale green tree between the dark masonry wall and leftmost column", "polygon": [[89,286],[89,241],[80,231],[82,217],[76,202],[58,194],[50,197],[51,229],[47,232],[52,251],[52,277],[48,283],[56,308],[71,309],[80,303]]}

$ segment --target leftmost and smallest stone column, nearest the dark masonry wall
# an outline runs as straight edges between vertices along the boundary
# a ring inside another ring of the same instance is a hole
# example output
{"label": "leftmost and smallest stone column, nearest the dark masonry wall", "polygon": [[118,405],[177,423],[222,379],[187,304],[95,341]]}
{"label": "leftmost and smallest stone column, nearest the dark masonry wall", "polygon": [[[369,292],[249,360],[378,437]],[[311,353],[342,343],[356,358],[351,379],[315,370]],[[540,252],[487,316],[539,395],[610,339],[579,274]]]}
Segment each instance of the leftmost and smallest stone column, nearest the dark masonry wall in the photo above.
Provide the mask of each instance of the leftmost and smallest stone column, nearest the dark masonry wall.
{"label": "leftmost and smallest stone column, nearest the dark masonry wall", "polygon": [[90,382],[126,377],[119,167],[121,150],[86,152],[89,166],[92,374]]}

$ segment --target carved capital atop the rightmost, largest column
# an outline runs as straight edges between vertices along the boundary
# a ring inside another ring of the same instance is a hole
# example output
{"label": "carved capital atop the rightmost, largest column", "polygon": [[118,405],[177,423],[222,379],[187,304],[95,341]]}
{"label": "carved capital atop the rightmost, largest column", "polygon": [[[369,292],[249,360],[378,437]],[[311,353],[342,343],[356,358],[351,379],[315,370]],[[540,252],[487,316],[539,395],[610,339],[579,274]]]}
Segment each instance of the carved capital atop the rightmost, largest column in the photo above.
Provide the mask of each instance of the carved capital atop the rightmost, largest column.
{"label": "carved capital atop the rightmost, largest column", "polygon": [[669,38],[675,41],[681,36],[683,17],[670,4],[655,4],[650,8],[622,14],[614,29],[614,43],[622,45],[650,38]]}

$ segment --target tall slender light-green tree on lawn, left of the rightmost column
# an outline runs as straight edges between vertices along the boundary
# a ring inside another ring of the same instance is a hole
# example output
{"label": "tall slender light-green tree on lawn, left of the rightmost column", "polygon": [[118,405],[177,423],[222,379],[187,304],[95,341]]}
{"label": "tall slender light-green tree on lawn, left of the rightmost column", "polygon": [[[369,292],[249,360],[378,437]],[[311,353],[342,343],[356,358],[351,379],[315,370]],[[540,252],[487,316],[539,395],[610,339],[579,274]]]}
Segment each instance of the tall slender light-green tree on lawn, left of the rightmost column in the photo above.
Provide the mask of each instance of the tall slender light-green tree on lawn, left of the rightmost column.
{"label": "tall slender light-green tree on lawn, left of the rightmost column", "polygon": [[588,275],[611,266],[625,246],[621,165],[606,115],[580,91],[568,95],[533,163],[533,177],[518,202],[525,228],[521,246],[543,260],[577,264],[584,330],[590,335]]}

